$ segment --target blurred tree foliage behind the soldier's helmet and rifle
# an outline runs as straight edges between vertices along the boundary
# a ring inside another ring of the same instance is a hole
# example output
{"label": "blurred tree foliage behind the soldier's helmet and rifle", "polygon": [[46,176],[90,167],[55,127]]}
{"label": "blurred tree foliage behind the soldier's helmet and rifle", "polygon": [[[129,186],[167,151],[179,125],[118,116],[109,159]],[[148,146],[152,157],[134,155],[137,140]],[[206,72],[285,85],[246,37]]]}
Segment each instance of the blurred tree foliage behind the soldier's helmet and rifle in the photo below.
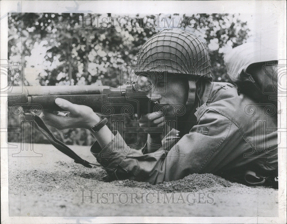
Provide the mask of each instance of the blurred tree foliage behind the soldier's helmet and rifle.
{"label": "blurred tree foliage behind the soldier's helmet and rifle", "polygon": [[[90,16],[94,18],[92,24]],[[129,81],[124,76],[120,83],[121,66],[124,62],[135,62],[142,44],[164,28],[183,29],[197,35],[208,47],[214,81],[229,82],[224,53],[244,43],[250,31],[238,14],[12,13],[8,28],[9,63],[18,62],[24,67],[24,83],[17,85],[112,87]],[[8,118],[8,127],[19,126],[19,117],[9,110]],[[131,120],[126,123],[135,126]],[[94,141],[84,129],[52,128],[52,131],[66,144],[91,145]],[[34,136],[35,143],[48,143],[39,133]],[[146,135],[142,133],[139,137],[138,143],[142,145]],[[138,139],[132,134],[125,140],[132,144]],[[9,133],[8,141],[19,141],[19,134]]]}

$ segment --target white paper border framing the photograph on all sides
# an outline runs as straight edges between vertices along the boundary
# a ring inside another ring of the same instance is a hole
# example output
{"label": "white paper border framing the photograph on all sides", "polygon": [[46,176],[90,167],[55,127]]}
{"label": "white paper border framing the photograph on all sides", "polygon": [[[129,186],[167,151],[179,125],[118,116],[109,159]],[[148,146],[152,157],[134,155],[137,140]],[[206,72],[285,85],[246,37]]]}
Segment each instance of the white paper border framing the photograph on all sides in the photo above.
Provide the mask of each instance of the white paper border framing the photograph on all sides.
{"label": "white paper border framing the photograph on all sides", "polygon": [[[69,9],[68,9],[69,8]],[[278,57],[286,59],[286,1],[0,1],[1,59],[7,59],[8,13],[274,13],[278,16]],[[258,24],[257,24],[258,25]],[[7,77],[1,77],[1,87]],[[286,85],[286,83],[285,83]],[[285,86],[286,88],[286,86]],[[278,97],[286,129],[286,96]],[[1,108],[7,95],[1,93]],[[286,132],[278,145],[279,217],[9,217],[8,154],[6,143],[6,110],[1,112],[1,223],[286,223]],[[3,131],[2,131],[3,130]],[[6,147],[6,149],[5,149]],[[282,150],[284,148],[284,150]]]}

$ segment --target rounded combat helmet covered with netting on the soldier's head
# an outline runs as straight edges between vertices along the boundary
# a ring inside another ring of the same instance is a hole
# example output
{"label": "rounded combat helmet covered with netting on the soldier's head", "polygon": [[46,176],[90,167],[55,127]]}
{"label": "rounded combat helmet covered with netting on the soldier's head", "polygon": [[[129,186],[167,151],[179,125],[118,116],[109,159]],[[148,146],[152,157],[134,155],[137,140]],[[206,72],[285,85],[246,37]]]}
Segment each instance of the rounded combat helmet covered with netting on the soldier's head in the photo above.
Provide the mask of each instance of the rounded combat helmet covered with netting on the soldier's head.
{"label": "rounded combat helmet covered with netting on the soldier's head", "polygon": [[182,30],[162,30],[141,47],[134,69],[142,72],[168,72],[212,80],[208,51],[195,35]]}

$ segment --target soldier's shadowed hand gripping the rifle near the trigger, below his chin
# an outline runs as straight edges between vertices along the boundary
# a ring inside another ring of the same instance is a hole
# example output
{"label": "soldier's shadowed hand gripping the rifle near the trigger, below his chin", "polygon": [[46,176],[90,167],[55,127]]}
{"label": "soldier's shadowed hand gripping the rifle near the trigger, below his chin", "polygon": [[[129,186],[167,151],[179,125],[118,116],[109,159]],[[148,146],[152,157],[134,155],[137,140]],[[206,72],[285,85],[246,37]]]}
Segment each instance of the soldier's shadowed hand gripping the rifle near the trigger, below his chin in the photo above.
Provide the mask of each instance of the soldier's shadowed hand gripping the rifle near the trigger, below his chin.
{"label": "soldier's shadowed hand gripping the rifle near the trigger, below his chin", "polygon": [[145,128],[159,128],[163,127],[163,116],[153,112],[151,114],[145,114],[143,115],[139,120],[139,127],[145,129]]}

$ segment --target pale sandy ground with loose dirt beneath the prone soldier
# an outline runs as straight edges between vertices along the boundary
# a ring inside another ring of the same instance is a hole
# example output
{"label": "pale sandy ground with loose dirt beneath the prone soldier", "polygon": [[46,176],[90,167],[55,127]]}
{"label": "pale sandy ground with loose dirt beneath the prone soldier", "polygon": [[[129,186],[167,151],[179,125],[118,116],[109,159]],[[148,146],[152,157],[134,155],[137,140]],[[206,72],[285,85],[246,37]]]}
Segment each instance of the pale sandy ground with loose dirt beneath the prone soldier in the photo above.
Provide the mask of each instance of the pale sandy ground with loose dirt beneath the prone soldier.
{"label": "pale sandy ground with loose dirt beneath the prone soldier", "polygon": [[[34,144],[42,157],[19,157],[27,154],[14,144],[8,150],[9,216],[278,216],[275,189],[212,174],[159,185],[109,181],[100,167],[75,164],[52,145]],[[96,162],[90,147],[71,148]]]}

